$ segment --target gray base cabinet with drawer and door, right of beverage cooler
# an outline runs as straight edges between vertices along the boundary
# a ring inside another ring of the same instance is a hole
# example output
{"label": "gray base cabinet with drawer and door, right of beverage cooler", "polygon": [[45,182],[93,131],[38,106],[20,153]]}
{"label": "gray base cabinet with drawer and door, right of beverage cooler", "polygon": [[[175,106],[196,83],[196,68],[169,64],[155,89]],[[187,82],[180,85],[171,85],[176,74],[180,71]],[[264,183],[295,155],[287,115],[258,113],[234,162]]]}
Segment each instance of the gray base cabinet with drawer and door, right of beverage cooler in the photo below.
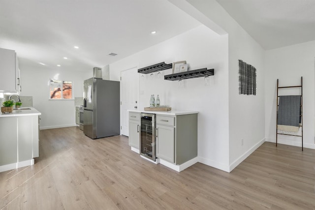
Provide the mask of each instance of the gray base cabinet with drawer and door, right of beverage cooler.
{"label": "gray base cabinet with drawer and door, right of beverage cooler", "polygon": [[197,157],[197,114],[157,114],[157,157],[181,165]]}

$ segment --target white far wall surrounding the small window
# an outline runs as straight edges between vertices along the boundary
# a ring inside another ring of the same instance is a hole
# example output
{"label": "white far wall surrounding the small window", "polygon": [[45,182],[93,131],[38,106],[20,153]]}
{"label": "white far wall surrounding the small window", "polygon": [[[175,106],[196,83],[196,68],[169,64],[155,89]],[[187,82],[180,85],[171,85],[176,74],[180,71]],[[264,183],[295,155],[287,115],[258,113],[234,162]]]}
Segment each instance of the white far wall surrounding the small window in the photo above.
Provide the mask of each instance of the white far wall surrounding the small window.
{"label": "white far wall surrounding the small window", "polygon": [[20,70],[20,95],[33,96],[33,107],[41,112],[40,129],[75,126],[74,100],[49,100],[49,79],[72,81],[74,97],[83,97],[83,80],[87,79],[87,73],[27,66],[20,66]]}

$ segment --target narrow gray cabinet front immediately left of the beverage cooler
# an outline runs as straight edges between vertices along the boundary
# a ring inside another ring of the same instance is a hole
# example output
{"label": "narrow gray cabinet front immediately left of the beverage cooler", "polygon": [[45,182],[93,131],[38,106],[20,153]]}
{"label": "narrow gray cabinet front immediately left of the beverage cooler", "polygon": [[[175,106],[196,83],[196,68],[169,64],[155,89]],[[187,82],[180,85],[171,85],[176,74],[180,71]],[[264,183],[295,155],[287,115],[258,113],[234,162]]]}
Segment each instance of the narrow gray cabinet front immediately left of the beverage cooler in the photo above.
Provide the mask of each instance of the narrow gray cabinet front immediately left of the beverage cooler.
{"label": "narrow gray cabinet front immediately left of the beverage cooler", "polygon": [[129,112],[129,146],[140,148],[140,113]]}

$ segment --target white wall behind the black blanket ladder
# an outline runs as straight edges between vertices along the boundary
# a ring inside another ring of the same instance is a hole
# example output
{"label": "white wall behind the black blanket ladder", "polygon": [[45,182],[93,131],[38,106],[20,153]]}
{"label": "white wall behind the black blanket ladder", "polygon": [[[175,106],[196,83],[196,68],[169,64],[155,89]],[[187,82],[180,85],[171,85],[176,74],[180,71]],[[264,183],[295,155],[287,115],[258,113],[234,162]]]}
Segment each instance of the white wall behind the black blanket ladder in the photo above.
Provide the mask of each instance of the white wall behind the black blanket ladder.
{"label": "white wall behind the black blanket ladder", "polygon": [[[303,146],[315,149],[315,40],[266,51],[266,141],[276,142],[277,79],[279,86],[298,86],[303,77]],[[281,89],[279,95],[301,94]],[[300,132],[299,132],[300,133]],[[301,147],[301,137],[278,135],[278,143]]]}

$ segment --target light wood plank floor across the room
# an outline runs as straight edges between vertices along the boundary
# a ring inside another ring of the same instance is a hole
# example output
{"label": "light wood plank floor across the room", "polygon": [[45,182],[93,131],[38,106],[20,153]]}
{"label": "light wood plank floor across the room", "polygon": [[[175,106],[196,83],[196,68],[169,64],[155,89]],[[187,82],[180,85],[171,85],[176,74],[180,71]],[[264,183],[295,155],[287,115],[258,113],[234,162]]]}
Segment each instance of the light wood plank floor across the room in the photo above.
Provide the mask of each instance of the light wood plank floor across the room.
{"label": "light wood plank floor across the room", "polygon": [[314,210],[315,150],[264,143],[231,173],[155,165],[115,136],[42,130],[33,166],[0,173],[5,210]]}

